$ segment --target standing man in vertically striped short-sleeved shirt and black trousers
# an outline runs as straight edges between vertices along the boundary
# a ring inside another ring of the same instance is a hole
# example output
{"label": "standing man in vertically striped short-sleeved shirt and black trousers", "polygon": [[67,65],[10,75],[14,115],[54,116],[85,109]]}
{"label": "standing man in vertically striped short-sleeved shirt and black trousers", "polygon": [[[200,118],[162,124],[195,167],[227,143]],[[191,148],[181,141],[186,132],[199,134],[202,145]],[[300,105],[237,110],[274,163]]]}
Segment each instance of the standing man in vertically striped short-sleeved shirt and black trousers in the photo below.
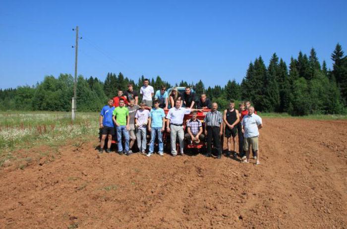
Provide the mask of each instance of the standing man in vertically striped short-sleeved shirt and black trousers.
{"label": "standing man in vertically striped short-sleeved shirt and black trousers", "polygon": [[222,158],[221,135],[223,135],[223,115],[218,109],[218,104],[213,103],[212,109],[205,116],[205,135],[207,135],[207,153],[206,157],[212,156],[212,139],[213,146],[218,152],[218,159]]}

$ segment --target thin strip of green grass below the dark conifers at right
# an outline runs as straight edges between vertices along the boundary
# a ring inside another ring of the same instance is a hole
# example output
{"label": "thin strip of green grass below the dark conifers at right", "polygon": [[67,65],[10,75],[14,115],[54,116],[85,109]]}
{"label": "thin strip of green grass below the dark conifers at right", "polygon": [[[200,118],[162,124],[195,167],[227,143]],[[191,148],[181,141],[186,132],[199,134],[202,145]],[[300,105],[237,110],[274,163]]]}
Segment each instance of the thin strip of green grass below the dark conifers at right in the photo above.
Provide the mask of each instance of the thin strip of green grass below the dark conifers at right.
{"label": "thin strip of green grass below the dark conifers at right", "polygon": [[262,113],[258,112],[261,117],[268,118],[300,118],[300,119],[316,119],[316,120],[338,120],[347,119],[346,114],[310,114],[305,116],[290,116],[287,113]]}

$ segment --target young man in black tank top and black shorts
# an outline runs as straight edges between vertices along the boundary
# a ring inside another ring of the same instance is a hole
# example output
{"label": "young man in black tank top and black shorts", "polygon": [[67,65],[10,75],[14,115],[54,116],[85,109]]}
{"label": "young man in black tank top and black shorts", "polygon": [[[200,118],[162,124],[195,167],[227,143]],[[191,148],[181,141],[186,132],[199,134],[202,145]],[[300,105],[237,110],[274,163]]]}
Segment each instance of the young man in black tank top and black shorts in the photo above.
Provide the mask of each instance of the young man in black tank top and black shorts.
{"label": "young man in black tank top and black shorts", "polygon": [[[236,135],[237,135],[237,123],[240,121],[238,111],[235,109],[235,102],[233,100],[230,101],[229,109],[224,111],[223,120],[225,123],[225,136],[227,138],[228,144],[228,153],[227,156],[231,155],[234,158],[237,157],[236,154]],[[231,151],[231,136],[233,141],[233,150]]]}

